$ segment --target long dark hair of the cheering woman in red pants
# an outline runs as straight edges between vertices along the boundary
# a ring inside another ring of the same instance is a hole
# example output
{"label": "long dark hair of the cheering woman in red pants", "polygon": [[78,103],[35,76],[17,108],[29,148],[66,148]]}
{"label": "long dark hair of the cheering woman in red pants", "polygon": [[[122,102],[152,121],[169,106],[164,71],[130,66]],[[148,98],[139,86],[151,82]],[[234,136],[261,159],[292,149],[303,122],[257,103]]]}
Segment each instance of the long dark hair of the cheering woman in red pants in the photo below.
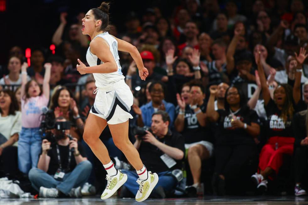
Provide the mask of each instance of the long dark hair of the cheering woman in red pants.
{"label": "long dark hair of the cheering woman in red pants", "polygon": [[[279,86],[283,87],[286,93],[286,100],[284,101],[280,118],[283,119],[283,121],[287,121],[288,116],[292,119],[294,113],[292,87],[289,84],[279,84],[278,87]],[[274,94],[277,88],[275,89]]]}

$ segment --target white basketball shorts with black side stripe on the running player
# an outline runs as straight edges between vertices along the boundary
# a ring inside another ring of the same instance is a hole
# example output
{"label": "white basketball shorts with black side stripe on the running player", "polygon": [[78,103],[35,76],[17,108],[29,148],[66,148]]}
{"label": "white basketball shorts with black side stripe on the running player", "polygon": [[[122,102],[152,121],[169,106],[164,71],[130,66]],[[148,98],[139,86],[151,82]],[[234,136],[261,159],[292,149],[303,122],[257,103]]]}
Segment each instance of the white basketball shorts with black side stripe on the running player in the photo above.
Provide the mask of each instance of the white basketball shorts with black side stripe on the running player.
{"label": "white basketball shorts with black side stripe on the running player", "polygon": [[105,119],[111,125],[133,118],[129,113],[130,107],[133,105],[133,94],[124,80],[110,86],[97,88],[96,92],[95,102],[90,113]]}

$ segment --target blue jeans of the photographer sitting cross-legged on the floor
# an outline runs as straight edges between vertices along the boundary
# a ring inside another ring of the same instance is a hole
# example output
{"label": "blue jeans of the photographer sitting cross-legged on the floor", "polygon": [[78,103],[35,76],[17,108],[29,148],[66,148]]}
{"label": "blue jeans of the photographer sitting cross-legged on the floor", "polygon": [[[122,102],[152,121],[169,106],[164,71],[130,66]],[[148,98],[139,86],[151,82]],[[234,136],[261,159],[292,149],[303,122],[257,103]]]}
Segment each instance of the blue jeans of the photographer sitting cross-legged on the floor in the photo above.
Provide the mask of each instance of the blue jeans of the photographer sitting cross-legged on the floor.
{"label": "blue jeans of the photographer sitting cross-legged on the floor", "polygon": [[63,194],[68,195],[72,188],[83,186],[88,180],[92,169],[92,164],[88,160],[80,162],[72,172],[66,173],[62,181],[57,181],[53,175],[49,175],[43,170],[32,168],[29,172],[29,179],[33,188],[40,191],[40,187],[57,188]]}

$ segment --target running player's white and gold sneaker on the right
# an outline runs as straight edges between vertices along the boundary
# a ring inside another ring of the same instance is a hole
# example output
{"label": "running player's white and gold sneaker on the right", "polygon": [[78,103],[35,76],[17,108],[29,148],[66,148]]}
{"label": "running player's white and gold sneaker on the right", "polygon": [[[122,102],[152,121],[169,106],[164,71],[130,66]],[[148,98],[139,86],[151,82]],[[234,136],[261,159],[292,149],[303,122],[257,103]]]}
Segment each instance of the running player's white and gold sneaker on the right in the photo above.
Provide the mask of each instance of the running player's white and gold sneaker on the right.
{"label": "running player's white and gold sneaker on the right", "polygon": [[148,171],[148,178],[146,180],[142,181],[138,178],[136,182],[140,186],[135,199],[137,202],[142,202],[150,196],[151,192],[156,186],[158,182],[158,175],[156,173],[152,174],[151,171]]}

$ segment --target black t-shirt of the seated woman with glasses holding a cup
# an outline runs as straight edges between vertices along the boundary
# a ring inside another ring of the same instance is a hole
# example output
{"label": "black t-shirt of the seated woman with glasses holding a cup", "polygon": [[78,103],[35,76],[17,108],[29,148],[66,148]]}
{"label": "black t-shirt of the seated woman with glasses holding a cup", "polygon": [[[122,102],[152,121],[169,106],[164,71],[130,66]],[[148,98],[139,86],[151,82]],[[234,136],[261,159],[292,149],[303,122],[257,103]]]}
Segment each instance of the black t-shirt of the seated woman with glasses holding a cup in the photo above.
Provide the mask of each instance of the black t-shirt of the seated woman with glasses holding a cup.
{"label": "black t-shirt of the seated woman with glasses holding a cup", "polygon": [[[239,144],[255,144],[253,136],[248,134],[245,129],[234,129],[231,125],[231,112],[230,110],[218,110],[219,119],[218,129],[216,133],[217,145],[239,145]],[[248,107],[242,107],[239,111],[235,112],[234,115],[237,119],[251,125],[251,123],[260,124],[259,117],[254,110],[250,110]]]}

